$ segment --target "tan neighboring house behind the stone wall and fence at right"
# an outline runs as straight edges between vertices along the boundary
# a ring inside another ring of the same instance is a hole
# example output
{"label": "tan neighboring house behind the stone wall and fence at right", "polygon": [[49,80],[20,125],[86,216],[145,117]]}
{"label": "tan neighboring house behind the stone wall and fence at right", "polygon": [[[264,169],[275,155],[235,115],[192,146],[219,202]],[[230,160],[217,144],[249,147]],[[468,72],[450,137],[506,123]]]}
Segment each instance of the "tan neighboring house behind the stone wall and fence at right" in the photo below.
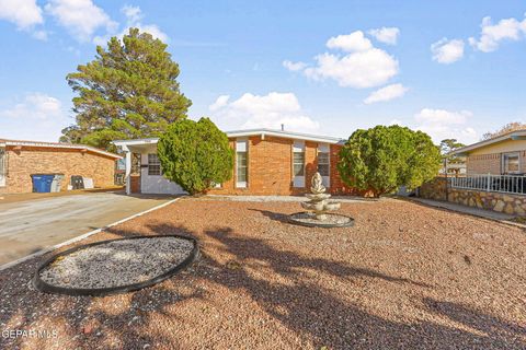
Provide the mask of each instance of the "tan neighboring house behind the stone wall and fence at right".
{"label": "tan neighboring house behind the stone wall and fence at right", "polygon": [[512,131],[451,152],[466,156],[467,174],[517,175],[526,173],[526,130]]}

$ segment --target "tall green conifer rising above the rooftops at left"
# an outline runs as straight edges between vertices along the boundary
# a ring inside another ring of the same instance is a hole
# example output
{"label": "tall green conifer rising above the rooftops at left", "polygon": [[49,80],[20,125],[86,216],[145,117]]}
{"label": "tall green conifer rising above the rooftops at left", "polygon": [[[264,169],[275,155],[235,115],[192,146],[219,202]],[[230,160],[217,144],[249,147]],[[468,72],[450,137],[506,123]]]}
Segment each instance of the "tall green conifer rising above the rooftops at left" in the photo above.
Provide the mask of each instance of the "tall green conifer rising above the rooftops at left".
{"label": "tall green conifer rising above the rooftops at left", "polygon": [[180,92],[179,65],[167,44],[130,28],[107,48],[96,47],[95,59],[67,75],[78,94],[76,125],[62,130],[61,141],[111,150],[116,139],[158,137],[186,118],[192,102]]}

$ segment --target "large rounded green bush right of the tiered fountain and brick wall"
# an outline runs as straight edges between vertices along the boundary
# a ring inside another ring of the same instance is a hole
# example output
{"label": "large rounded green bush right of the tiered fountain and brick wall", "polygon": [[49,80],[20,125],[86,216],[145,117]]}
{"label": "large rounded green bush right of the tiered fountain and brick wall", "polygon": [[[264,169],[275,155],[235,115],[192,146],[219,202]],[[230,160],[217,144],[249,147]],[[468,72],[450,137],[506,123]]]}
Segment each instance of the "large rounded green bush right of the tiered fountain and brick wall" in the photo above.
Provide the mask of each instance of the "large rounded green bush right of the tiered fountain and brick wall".
{"label": "large rounded green bush right of the tiered fountain and brick wall", "polygon": [[347,186],[379,197],[402,185],[413,189],[434,178],[441,151],[422,131],[377,126],[353,132],[340,151],[336,167]]}

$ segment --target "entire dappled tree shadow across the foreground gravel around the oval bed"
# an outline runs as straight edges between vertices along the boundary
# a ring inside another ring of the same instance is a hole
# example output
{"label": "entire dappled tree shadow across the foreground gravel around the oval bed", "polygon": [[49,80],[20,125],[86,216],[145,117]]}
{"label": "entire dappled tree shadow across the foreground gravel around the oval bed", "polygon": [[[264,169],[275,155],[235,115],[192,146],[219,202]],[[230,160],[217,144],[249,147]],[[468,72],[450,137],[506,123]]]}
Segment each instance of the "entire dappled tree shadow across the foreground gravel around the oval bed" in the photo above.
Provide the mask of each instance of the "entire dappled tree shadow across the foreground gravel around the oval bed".
{"label": "entire dappled tree shadow across the foreground gravel around the oval bed", "polygon": [[[24,329],[34,324],[39,324],[45,329],[58,324],[66,325],[65,330],[60,330],[62,332],[59,332],[59,338],[68,337],[73,340],[60,347],[60,339],[57,339],[55,348],[144,349],[146,345],[150,345],[150,349],[179,349],[182,345],[174,343],[178,339],[165,338],[165,335],[171,332],[169,327],[187,323],[194,323],[198,327],[199,319],[178,319],[167,308],[182,302],[185,305],[196,300],[206,302],[205,292],[192,284],[193,279],[202,279],[227,288],[233,295],[239,291],[248,293],[275,322],[301,339],[313,339],[317,349],[526,348],[524,328],[503,323],[467,305],[431,298],[422,301],[425,314],[453,319],[473,329],[472,331],[428,320],[403,323],[374,315],[362,306],[366,300],[342,299],[341,290],[323,284],[324,278],[335,277],[343,281],[344,283],[336,284],[340,289],[345,283],[348,289],[364,288],[375,280],[399,284],[400,293],[404,292],[405,285],[413,289],[426,289],[430,285],[371,269],[356,268],[343,261],[300,256],[289,250],[294,249],[294,246],[276,248],[271,246],[268,241],[237,233],[230,228],[193,232],[184,226],[161,223],[150,224],[135,232],[114,228],[107,231],[123,237],[137,234],[191,235],[204,246],[202,261],[184,273],[191,278],[174,277],[138,292],[102,299],[42,294],[27,289],[28,275],[21,277],[19,272],[13,272],[11,278],[0,275],[0,300],[15,299],[19,302],[11,304],[15,305],[14,307],[2,305],[0,325],[16,323],[18,319],[22,319],[24,326],[21,327]],[[229,268],[221,262],[226,256],[233,257],[238,262],[236,268]],[[33,265],[26,268],[32,269]],[[262,266],[265,267],[264,273],[254,278],[251,269]],[[213,291],[213,288],[208,288],[206,293]],[[121,308],[112,305],[121,305]],[[245,311],[247,314],[251,312]],[[170,322],[163,324],[169,327],[156,326],[159,318],[155,317],[155,314],[169,318]],[[204,324],[210,327],[209,324]],[[215,335],[219,336],[221,335]],[[250,334],[244,336],[250,337]],[[187,343],[187,339],[180,340]],[[31,346],[24,343],[28,341],[32,341]],[[34,339],[0,338],[0,349],[12,349],[16,346],[43,349],[46,348],[45,345],[38,340],[35,342]]]}

